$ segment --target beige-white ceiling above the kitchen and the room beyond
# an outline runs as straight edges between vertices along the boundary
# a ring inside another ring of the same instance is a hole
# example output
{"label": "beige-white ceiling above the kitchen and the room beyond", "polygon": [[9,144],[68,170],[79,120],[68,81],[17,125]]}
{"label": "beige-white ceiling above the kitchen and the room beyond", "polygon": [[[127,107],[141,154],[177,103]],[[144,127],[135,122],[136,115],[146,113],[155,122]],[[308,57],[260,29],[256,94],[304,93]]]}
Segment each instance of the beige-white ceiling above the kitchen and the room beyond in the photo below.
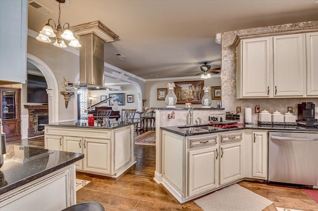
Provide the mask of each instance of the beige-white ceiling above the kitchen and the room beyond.
{"label": "beige-white ceiling above the kitchen and the room beyond", "polygon": [[[29,6],[28,28],[58,20],[54,0],[37,0],[54,13]],[[70,0],[61,23],[100,20],[119,39],[105,43],[105,62],[144,79],[194,76],[202,61],[220,61],[217,33],[318,20],[317,0]],[[71,48],[71,47],[68,47]],[[126,57],[119,60],[113,53]],[[218,67],[212,62],[212,68]]]}

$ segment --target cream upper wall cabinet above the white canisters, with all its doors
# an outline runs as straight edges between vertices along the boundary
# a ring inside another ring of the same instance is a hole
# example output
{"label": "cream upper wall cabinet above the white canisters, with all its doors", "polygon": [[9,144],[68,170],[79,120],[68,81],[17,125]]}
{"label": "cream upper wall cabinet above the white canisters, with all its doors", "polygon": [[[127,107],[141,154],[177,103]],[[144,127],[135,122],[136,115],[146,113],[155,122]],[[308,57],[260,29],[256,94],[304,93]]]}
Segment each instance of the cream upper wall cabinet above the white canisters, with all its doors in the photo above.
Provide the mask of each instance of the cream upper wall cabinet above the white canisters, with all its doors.
{"label": "cream upper wall cabinet above the white canisters, with all its doors", "polygon": [[317,32],[241,40],[237,55],[238,99],[318,96]]}

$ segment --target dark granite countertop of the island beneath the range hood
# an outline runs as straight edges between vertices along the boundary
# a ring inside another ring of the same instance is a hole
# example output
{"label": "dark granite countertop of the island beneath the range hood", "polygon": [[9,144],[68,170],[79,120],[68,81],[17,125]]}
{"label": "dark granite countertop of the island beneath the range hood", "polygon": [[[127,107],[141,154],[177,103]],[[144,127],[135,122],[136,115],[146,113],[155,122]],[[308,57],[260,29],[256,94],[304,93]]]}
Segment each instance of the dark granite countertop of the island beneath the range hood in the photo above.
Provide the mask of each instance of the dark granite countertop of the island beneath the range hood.
{"label": "dark granite countertop of the island beneath the range hood", "polygon": [[88,126],[87,120],[76,120],[76,121],[67,121],[67,122],[59,122],[52,124],[40,124],[44,126],[56,126],[56,127],[79,127],[79,128],[102,128],[102,129],[116,129],[119,127],[125,127],[132,124],[137,124],[138,122],[123,122],[123,121],[109,121],[107,125],[100,126]]}

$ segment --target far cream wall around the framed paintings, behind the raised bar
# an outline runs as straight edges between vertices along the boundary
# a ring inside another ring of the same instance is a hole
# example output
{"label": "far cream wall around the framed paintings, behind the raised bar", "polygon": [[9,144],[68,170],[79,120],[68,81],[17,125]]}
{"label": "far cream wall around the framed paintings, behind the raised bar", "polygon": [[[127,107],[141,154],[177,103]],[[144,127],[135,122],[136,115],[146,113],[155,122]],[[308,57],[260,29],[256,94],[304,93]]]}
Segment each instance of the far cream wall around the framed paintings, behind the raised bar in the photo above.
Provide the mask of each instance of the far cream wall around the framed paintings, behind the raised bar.
{"label": "far cream wall around the framed paintings, behind the raised bar", "polygon": [[[157,89],[162,89],[162,88],[167,88],[168,83],[172,82],[179,82],[179,81],[201,81],[203,79],[198,76],[197,79],[171,79],[171,80],[152,80],[152,81],[147,81],[145,83],[145,90],[146,92],[144,93],[143,99],[146,99],[145,106],[148,107],[166,107],[167,105],[165,104],[164,101],[158,101],[157,100]],[[220,76],[212,76],[212,78],[205,79],[204,81],[204,86],[221,86],[221,78]],[[221,90],[222,91],[222,90]],[[211,97],[211,90],[210,90],[210,97]],[[221,102],[221,100],[213,100],[211,106],[217,107],[217,102]],[[144,106],[144,107],[145,107]],[[184,104],[177,104],[175,105],[176,107],[184,107]],[[192,107],[202,107],[201,104],[192,104]]]}

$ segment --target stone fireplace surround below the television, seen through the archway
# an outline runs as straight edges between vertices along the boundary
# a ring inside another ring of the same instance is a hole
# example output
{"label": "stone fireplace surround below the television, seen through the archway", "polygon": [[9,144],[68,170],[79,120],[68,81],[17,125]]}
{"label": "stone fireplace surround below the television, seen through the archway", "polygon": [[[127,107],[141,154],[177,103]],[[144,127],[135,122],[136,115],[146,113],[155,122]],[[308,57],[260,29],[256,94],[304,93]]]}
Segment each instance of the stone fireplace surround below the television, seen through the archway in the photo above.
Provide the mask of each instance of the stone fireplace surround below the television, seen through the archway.
{"label": "stone fireplace surround below the television, seen through the archway", "polygon": [[38,117],[49,115],[48,105],[24,105],[24,108],[28,109],[29,124],[28,124],[28,138],[34,136],[44,135],[43,131],[38,131]]}

